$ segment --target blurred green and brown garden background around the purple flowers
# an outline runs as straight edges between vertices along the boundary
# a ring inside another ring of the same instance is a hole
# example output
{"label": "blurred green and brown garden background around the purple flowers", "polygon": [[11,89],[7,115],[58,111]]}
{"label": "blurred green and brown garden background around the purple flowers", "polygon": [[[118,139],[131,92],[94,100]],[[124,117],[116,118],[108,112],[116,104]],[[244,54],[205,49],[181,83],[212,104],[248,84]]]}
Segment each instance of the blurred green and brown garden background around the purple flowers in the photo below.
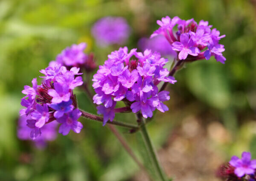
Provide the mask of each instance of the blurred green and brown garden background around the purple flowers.
{"label": "blurred green and brown garden background around the purple flowers", "polygon": [[[40,75],[57,54],[86,42],[101,65],[116,45],[99,47],[91,28],[105,16],[131,26],[125,44],[136,48],[166,15],[209,21],[226,37],[222,65],[215,59],[187,64],[169,85],[169,111],[148,124],[166,173],[177,181],[219,181],[219,165],[251,151],[256,158],[255,0],[1,0],[0,1],[0,180],[147,181],[108,127],[85,119],[80,134],[58,134],[47,147],[17,138],[23,85]],[[96,113],[83,92],[79,106]],[[134,122],[133,115],[116,120]],[[143,161],[140,134],[119,129]],[[144,160],[146,161],[146,160]]]}

